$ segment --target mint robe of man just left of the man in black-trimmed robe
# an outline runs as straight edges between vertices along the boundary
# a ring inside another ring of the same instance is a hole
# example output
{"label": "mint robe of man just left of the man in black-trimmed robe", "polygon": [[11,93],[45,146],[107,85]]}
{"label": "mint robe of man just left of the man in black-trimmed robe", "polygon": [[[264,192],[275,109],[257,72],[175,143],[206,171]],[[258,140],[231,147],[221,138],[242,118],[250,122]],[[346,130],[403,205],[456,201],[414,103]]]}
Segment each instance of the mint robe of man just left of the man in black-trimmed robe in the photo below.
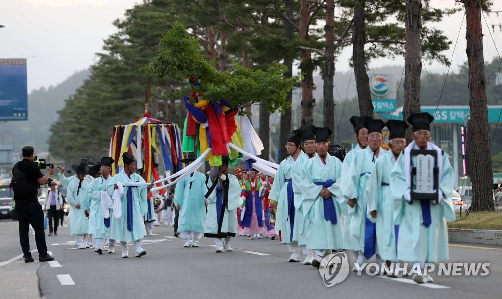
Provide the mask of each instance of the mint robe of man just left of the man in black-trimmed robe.
{"label": "mint robe of man just left of the man in black-trimmed robe", "polygon": [[207,193],[206,176],[195,171],[176,184],[174,206],[180,205],[178,232],[198,232],[205,230],[206,207],[204,195]]}

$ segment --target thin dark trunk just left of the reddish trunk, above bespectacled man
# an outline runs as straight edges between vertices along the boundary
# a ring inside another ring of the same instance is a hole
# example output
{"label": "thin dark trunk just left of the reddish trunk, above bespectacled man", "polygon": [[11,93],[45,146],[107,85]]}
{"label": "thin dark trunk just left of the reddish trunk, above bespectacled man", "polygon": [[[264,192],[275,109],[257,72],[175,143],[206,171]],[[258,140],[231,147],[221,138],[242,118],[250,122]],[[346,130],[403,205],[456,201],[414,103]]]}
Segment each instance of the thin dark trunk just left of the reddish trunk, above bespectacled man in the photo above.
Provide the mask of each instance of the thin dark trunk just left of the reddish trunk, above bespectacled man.
{"label": "thin dark trunk just left of the reddish trunk, above bespectacled man", "polygon": [[[288,8],[288,11],[286,12],[286,17],[289,20],[293,20],[294,19],[293,0],[285,0],[285,6]],[[286,37],[286,39],[288,39],[288,41],[292,41],[295,29],[293,25],[288,21],[285,21],[284,24],[285,24],[284,36]],[[287,53],[286,57],[284,58],[284,65],[288,67],[288,71],[284,74],[284,77],[291,78],[293,76],[293,58],[289,57]],[[292,99],[292,93],[290,90],[288,92],[288,95],[286,96],[286,101],[291,103],[291,99]],[[288,135],[290,133],[291,133],[291,107],[287,108],[284,114],[281,115],[281,132],[279,134],[279,144],[277,144],[277,146],[279,147],[278,162],[283,161],[288,156],[284,144],[286,144],[286,141],[288,140]]]}

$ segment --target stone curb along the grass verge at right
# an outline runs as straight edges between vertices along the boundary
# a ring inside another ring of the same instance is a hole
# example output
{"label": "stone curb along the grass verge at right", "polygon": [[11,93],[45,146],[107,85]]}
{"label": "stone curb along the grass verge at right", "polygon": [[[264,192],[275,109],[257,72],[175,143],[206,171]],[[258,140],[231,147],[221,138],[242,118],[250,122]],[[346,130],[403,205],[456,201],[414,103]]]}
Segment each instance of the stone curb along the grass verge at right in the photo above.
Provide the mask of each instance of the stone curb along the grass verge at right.
{"label": "stone curb along the grass verge at right", "polygon": [[502,230],[448,228],[448,241],[502,245]]}

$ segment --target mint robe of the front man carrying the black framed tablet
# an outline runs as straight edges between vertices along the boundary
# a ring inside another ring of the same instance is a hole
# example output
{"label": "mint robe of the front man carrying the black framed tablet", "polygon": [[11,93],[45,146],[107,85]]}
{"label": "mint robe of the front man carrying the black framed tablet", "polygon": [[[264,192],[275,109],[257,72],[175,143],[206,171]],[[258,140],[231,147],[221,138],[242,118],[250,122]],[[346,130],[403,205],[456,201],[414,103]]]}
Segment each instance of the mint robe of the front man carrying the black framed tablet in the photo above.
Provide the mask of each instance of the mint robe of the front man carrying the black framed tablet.
{"label": "mint robe of the front man carrying the black framed tablet", "polygon": [[[453,190],[453,169],[448,160],[448,155],[439,147],[428,142],[427,150],[435,150],[439,153],[439,189],[443,196],[439,204],[430,202],[431,223],[429,227],[424,224],[422,203],[419,200],[410,204],[405,200],[404,194],[410,189],[406,175],[407,150],[418,149],[413,141],[399,156],[394,166],[390,184],[394,199],[394,221],[399,225],[398,232],[398,259],[433,263],[448,259],[448,233],[446,221],[456,219],[451,194]],[[416,158],[413,158],[416,163]]]}

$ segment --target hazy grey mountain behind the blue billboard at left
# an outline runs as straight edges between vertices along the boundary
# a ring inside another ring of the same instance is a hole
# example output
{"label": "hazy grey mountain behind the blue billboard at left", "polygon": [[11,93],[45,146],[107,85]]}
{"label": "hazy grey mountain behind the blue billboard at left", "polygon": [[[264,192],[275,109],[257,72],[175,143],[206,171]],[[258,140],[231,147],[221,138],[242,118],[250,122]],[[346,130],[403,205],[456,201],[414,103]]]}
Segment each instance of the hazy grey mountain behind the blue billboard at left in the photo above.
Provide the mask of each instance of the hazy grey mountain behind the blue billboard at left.
{"label": "hazy grey mountain behind the blue billboard at left", "polygon": [[3,144],[14,144],[14,152],[21,152],[26,144],[35,146],[37,153],[47,152],[49,128],[57,119],[57,111],[65,105],[65,100],[75,93],[89,77],[89,70],[75,72],[57,86],[33,90],[28,95],[29,119],[0,123]]}

